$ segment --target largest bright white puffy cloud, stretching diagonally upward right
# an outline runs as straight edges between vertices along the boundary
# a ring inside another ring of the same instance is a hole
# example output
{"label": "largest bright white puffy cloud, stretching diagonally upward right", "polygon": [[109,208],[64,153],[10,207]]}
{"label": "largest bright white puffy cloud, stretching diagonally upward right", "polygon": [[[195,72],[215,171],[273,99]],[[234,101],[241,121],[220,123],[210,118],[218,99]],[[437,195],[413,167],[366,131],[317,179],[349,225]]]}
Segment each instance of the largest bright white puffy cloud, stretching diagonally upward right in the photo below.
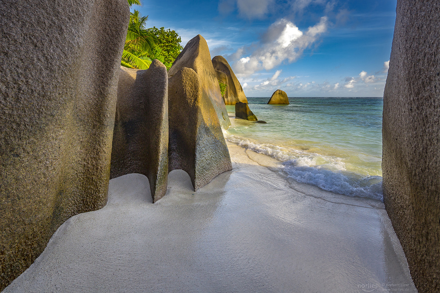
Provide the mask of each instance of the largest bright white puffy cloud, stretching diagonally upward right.
{"label": "largest bright white puffy cloud, stretching diagonally upward right", "polygon": [[[249,76],[259,70],[271,70],[285,60],[293,62],[306,48],[314,44],[327,28],[328,19],[325,16],[305,32],[301,32],[292,22],[282,18],[268,28],[260,44],[253,46],[256,49],[251,55],[233,63],[234,72],[239,76]],[[247,51],[244,48],[239,50]]]}

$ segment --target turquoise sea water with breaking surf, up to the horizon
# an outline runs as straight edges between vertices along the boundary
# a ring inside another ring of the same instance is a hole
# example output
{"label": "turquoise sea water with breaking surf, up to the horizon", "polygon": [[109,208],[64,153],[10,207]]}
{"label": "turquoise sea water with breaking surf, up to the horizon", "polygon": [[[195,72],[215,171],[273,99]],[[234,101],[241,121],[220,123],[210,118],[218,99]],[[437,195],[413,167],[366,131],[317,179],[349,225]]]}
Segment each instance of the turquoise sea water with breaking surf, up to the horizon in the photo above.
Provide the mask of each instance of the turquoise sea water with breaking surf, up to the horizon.
{"label": "turquoise sea water with breaking surf, up to the horizon", "polygon": [[[382,99],[248,98],[267,124],[231,118],[225,138],[282,162],[290,179],[349,196],[382,200]],[[226,106],[235,116],[235,106]]]}

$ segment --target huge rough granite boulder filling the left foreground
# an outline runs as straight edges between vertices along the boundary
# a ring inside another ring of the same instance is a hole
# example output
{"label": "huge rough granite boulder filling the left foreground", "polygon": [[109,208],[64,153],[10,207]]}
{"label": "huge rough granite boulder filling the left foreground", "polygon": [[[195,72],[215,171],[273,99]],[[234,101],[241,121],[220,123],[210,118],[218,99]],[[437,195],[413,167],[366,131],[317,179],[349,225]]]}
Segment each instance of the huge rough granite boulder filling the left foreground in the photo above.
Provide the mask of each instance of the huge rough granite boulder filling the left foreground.
{"label": "huge rough granite boulder filling the left foreground", "polygon": [[126,0],[0,5],[0,290],[106,204]]}

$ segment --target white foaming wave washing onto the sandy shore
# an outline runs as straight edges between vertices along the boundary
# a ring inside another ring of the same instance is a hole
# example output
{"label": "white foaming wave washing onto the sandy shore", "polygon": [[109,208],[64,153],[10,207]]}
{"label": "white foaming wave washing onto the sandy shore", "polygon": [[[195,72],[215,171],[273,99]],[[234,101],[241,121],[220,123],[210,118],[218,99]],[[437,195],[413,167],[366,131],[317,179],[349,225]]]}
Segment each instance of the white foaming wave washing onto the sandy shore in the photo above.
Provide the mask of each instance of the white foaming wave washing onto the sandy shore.
{"label": "white foaming wave washing onto the sandy shore", "polygon": [[323,190],[348,196],[383,201],[382,177],[364,176],[346,169],[339,157],[324,156],[275,144],[257,143],[251,139],[224,132],[225,139],[240,147],[265,154],[281,162],[280,171],[287,178],[315,185]]}

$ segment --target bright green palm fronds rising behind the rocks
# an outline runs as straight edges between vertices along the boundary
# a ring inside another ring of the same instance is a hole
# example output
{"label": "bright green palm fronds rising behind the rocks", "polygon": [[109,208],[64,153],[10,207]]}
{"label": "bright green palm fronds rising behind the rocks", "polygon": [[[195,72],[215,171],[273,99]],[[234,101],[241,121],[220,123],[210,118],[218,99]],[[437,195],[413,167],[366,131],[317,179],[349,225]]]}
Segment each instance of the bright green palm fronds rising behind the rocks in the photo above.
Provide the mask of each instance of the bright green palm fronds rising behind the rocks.
{"label": "bright green palm fronds rising behind the rocks", "polygon": [[[134,1],[139,2],[139,0],[128,0],[128,4],[130,1],[134,4],[136,4]],[[122,53],[122,66],[137,69],[150,67],[151,59],[147,55],[153,55],[152,48],[157,43],[157,39],[145,28],[147,20],[148,15],[142,16],[137,10],[130,12],[130,22]]]}

